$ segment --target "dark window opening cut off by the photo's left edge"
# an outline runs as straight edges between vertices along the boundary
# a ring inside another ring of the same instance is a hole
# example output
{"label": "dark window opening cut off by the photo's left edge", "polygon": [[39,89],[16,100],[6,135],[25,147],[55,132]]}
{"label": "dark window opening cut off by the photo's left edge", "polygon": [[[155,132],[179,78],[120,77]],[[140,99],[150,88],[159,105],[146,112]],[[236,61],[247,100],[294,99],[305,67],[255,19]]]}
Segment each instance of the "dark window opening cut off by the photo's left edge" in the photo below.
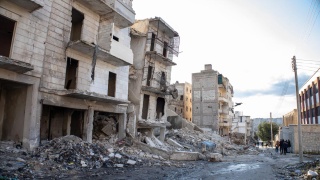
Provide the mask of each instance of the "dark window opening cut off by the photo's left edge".
{"label": "dark window opening cut off by the photo's left edge", "polygon": [[0,55],[9,57],[16,22],[0,15],[0,24]]}

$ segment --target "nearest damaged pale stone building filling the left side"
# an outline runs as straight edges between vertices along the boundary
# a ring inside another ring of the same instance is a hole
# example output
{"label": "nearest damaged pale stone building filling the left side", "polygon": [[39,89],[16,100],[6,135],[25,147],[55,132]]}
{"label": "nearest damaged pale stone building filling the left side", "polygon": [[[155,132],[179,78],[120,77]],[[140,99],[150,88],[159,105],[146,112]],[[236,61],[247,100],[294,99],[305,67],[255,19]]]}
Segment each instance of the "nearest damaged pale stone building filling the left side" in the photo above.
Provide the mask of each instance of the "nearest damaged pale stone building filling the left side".
{"label": "nearest damaged pale stone building filling the left side", "polygon": [[0,139],[32,149],[100,115],[125,136],[132,0],[0,1]]}

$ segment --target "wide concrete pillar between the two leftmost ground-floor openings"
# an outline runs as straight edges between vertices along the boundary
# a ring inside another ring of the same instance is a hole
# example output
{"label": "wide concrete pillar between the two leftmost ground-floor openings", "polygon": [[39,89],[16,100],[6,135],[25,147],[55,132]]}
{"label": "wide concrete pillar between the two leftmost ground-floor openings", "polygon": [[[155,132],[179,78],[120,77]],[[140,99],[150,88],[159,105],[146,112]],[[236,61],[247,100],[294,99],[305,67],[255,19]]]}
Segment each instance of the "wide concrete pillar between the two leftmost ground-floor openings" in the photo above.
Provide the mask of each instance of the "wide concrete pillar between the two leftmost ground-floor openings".
{"label": "wide concrete pillar between the two leftmost ground-floor openings", "polygon": [[38,97],[40,79],[27,87],[27,98],[23,127],[23,147],[33,150],[40,144],[41,104]]}

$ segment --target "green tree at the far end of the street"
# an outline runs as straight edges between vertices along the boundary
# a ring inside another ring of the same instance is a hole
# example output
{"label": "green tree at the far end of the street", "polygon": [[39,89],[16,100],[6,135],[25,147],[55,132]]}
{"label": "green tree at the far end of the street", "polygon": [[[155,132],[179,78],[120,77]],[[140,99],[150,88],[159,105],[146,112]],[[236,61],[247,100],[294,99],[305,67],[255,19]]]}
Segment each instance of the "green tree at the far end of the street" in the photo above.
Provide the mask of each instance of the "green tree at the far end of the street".
{"label": "green tree at the far end of the street", "polygon": [[[279,126],[276,123],[272,123],[273,136],[278,134],[278,132],[279,132]],[[257,135],[262,141],[270,141],[271,140],[271,123],[270,122],[260,123],[258,126]]]}

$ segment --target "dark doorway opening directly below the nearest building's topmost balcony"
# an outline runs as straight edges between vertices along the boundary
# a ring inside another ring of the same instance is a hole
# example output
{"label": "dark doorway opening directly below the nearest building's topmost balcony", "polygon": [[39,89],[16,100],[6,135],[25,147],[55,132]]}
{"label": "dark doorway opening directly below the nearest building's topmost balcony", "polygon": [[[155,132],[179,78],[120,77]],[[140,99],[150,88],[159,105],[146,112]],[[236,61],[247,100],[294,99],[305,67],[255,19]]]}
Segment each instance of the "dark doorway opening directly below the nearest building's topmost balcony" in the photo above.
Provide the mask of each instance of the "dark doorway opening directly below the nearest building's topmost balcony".
{"label": "dark doorway opening directly below the nearest building's topmost balcony", "polygon": [[82,24],[84,15],[80,11],[76,10],[75,8],[72,8],[72,20],[71,20],[71,35],[70,40],[71,41],[77,41],[81,39],[81,30],[82,30]]}

